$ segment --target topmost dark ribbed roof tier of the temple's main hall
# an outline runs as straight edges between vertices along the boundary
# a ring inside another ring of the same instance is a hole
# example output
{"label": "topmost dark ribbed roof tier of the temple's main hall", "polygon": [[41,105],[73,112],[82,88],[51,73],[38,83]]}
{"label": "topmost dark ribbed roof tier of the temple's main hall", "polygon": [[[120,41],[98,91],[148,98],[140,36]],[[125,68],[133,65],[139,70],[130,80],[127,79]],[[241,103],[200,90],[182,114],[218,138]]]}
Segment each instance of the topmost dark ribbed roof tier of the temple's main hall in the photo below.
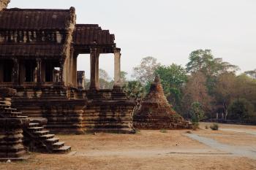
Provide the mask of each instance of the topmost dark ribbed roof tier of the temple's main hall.
{"label": "topmost dark ribbed roof tier of the temple's main hall", "polygon": [[7,30],[61,30],[69,27],[70,9],[3,9],[0,29]]}

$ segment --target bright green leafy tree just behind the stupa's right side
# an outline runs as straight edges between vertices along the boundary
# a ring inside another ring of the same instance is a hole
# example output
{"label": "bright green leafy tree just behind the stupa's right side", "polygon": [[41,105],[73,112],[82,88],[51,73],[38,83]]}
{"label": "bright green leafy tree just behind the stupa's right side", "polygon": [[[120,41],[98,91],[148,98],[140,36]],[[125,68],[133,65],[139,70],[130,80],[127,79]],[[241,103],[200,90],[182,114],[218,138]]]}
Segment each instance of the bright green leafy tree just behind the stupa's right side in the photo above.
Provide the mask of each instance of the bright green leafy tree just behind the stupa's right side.
{"label": "bright green leafy tree just behind the stupa's right side", "polygon": [[187,82],[186,69],[173,63],[170,66],[158,66],[155,74],[161,79],[167,100],[177,112],[181,112],[181,88]]}

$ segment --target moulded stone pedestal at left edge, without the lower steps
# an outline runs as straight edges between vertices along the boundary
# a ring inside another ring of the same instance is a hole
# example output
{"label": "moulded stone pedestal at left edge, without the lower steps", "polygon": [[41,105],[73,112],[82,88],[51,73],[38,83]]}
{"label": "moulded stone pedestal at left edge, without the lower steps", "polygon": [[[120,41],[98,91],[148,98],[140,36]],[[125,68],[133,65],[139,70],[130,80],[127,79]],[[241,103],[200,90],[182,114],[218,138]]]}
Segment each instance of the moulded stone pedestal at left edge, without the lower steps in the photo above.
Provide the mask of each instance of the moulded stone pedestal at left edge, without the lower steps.
{"label": "moulded stone pedestal at left edge, without the lower steps", "polygon": [[23,127],[29,125],[29,119],[11,108],[13,89],[0,89],[0,160],[25,158],[23,145]]}

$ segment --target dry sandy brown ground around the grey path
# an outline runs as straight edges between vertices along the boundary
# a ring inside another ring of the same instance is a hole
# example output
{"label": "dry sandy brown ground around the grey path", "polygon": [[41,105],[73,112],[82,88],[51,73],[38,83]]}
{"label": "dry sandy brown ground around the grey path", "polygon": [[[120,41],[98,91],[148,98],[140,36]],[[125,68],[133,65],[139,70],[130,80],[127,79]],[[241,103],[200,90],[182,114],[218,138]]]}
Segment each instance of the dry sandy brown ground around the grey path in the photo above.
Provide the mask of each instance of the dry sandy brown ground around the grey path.
{"label": "dry sandy brown ground around the grey path", "polygon": [[[256,136],[236,131],[191,131],[256,154]],[[227,129],[255,126],[220,125]],[[139,131],[138,134],[61,135],[72,146],[67,155],[30,153],[28,161],[0,163],[0,169],[256,169],[254,158],[233,155],[197,142],[182,131]]]}

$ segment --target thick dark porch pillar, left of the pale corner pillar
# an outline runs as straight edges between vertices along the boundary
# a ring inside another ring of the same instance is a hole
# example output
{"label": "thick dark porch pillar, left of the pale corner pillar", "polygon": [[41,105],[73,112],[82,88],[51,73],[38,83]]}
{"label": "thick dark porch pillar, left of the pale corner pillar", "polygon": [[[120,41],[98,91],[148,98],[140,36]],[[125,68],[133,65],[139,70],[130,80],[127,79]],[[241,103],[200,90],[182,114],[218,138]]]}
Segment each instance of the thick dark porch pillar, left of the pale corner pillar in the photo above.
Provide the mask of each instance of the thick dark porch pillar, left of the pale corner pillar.
{"label": "thick dark porch pillar, left of the pale corner pillar", "polygon": [[99,89],[99,51],[97,48],[91,48],[91,85],[90,90]]}

